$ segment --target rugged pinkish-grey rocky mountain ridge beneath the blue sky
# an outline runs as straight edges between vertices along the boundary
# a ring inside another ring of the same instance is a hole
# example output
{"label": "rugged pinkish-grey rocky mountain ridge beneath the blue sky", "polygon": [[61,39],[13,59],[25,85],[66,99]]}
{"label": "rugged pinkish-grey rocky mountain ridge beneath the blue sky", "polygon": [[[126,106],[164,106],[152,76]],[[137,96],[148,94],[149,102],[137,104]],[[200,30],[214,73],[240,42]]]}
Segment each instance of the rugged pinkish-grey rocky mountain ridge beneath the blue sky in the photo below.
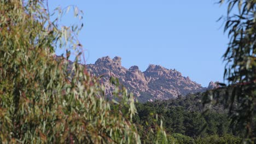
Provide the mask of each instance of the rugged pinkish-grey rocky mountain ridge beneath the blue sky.
{"label": "rugged pinkish-grey rocky mountain ridge beneath the blue sky", "polygon": [[135,65],[129,69],[121,65],[121,58],[102,57],[95,64],[88,64],[88,70],[96,76],[103,76],[106,94],[110,95],[113,86],[109,83],[110,76],[117,77],[129,92],[135,94],[139,101],[176,98],[178,95],[206,91],[189,77],[182,76],[177,70],[166,69],[160,65],[150,64],[144,72]]}

